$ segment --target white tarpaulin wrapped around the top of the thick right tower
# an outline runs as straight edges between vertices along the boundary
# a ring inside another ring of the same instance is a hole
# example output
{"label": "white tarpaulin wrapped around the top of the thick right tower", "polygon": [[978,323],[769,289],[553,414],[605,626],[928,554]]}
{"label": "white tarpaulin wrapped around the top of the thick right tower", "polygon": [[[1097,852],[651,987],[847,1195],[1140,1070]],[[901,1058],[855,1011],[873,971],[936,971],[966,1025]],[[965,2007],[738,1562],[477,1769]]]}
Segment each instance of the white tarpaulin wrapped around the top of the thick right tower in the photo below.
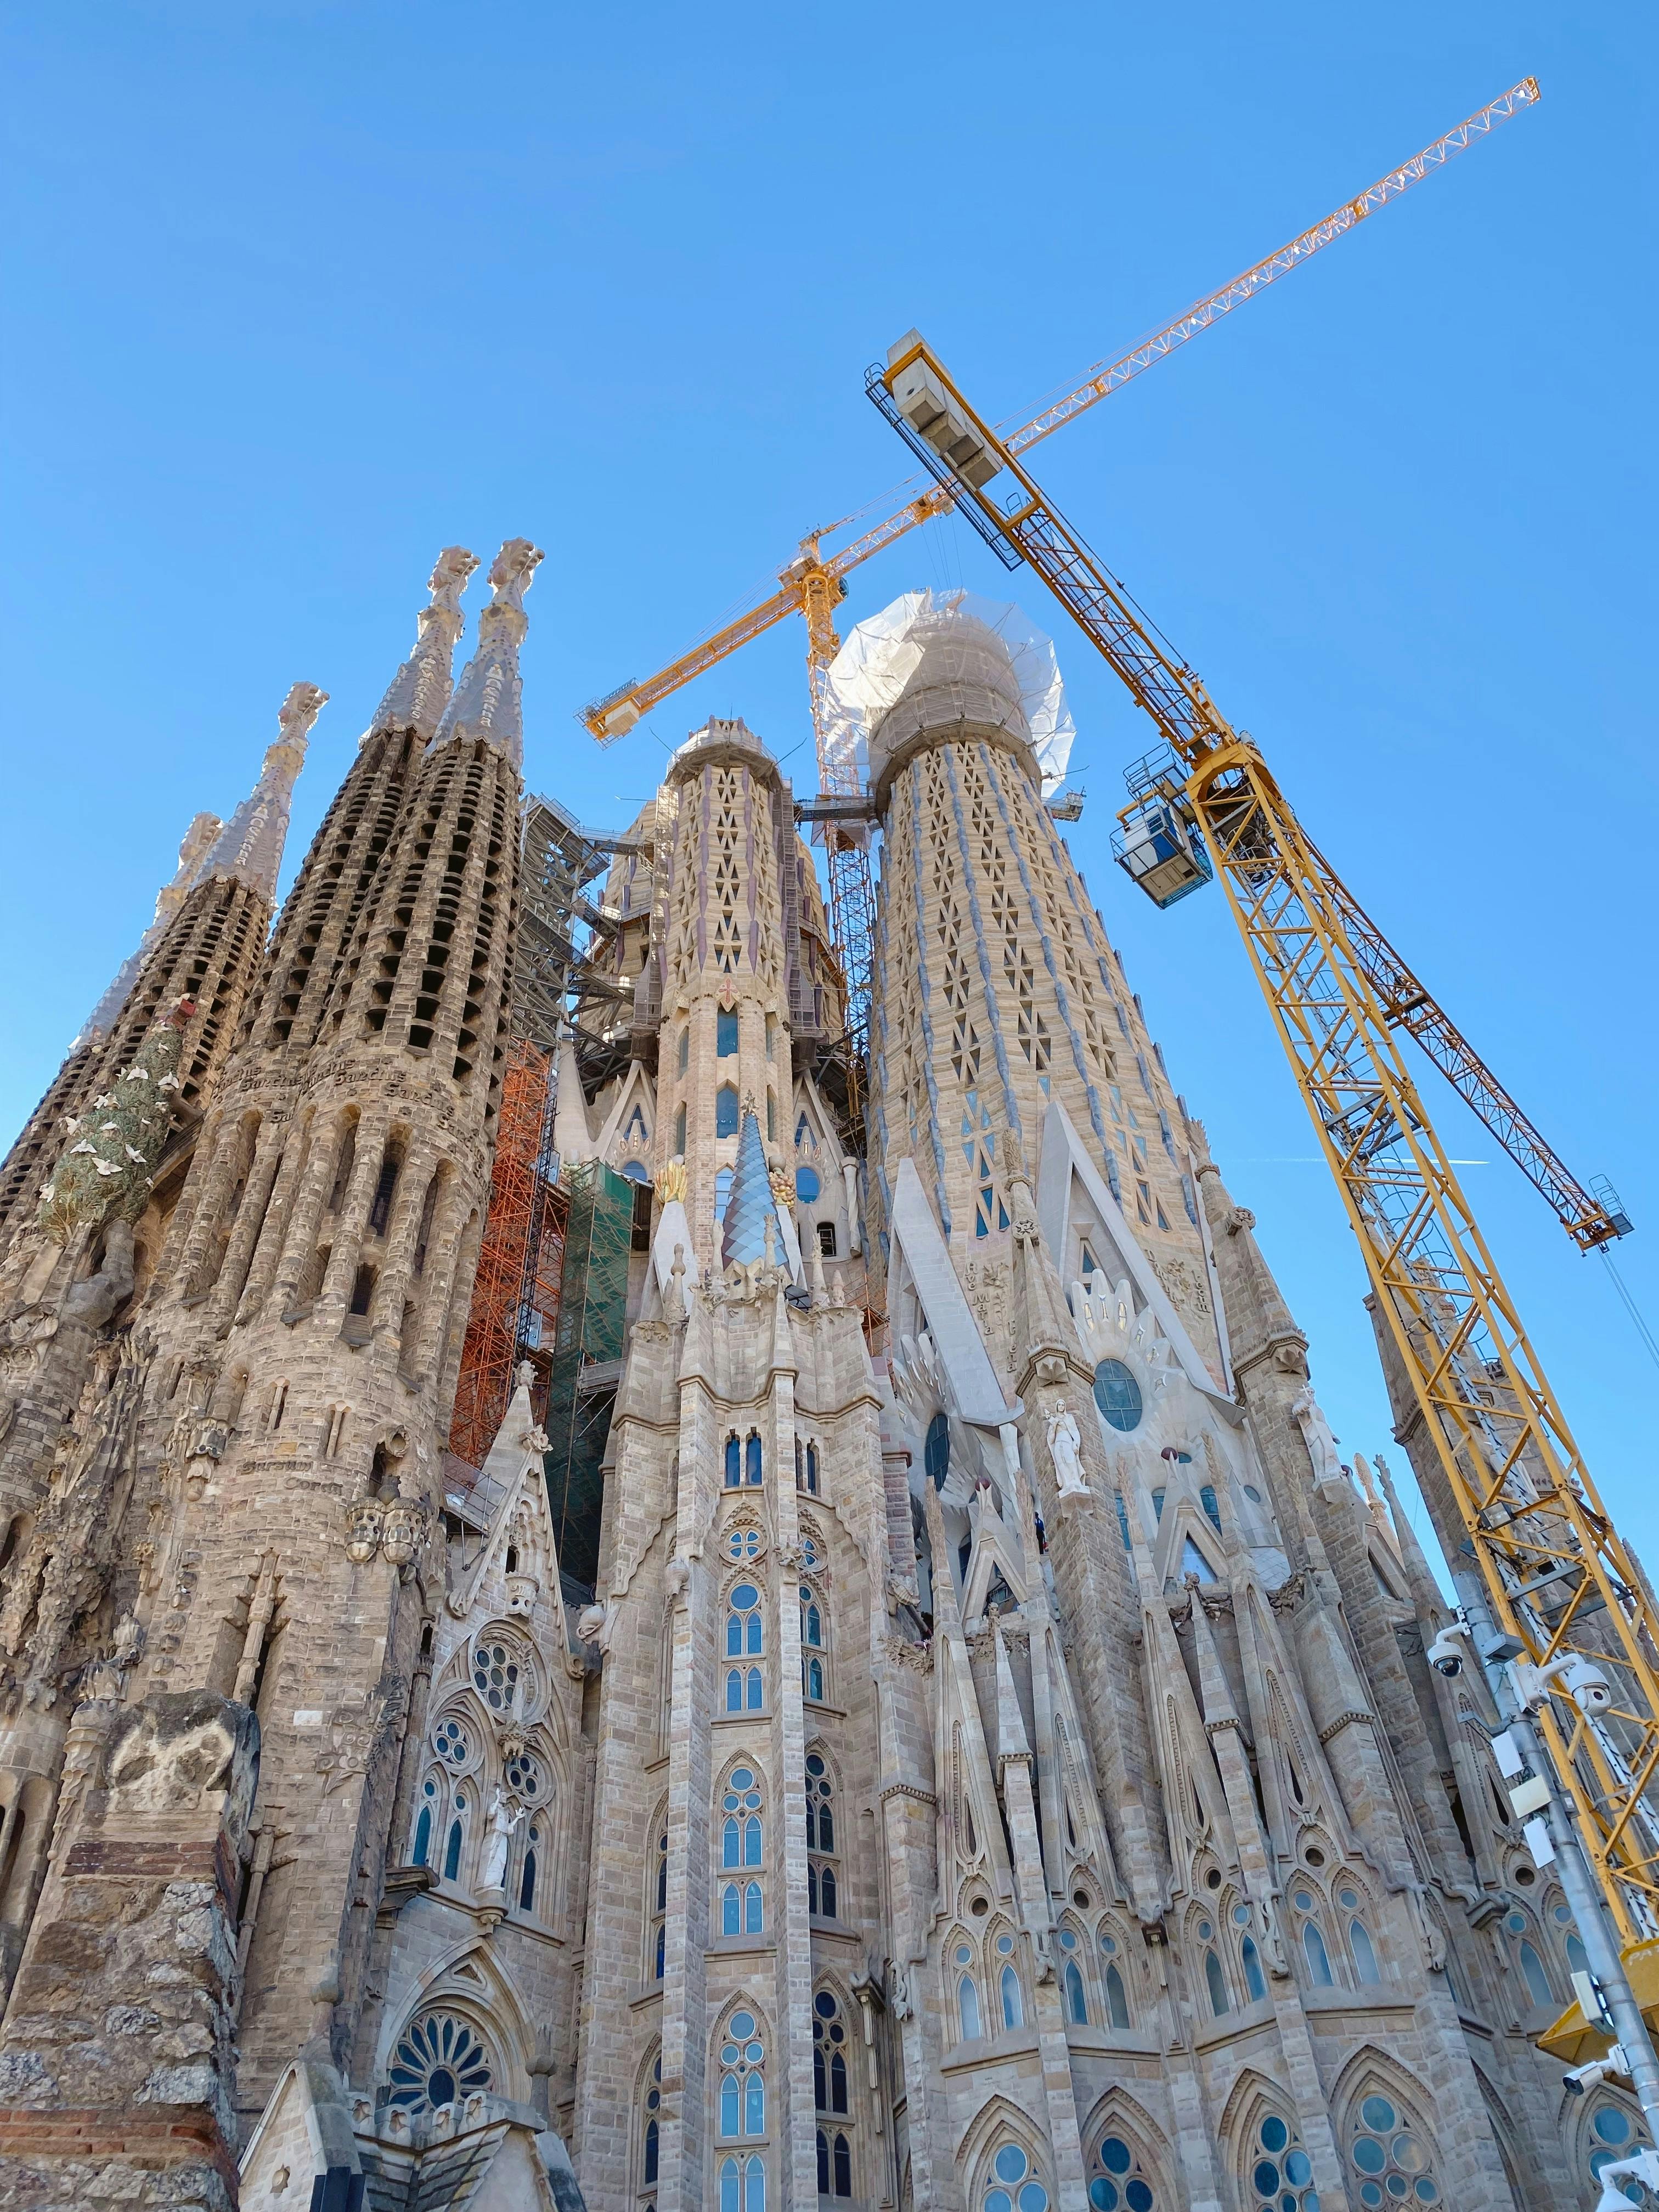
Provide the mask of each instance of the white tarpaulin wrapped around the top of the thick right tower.
{"label": "white tarpaulin wrapped around the top of the thick right tower", "polygon": [[[978,630],[973,641],[984,644],[998,664],[1006,661],[1006,677],[998,668],[1002,679],[993,688],[1006,695],[1009,708],[1026,723],[1046,799],[1064,783],[1077,734],[1053,639],[1022,608],[982,599],[973,591],[907,591],[852,630],[827,677],[830,761],[854,759],[860,779],[869,781],[872,728],[905,695],[929,644],[945,641],[958,624],[962,644]],[[991,637],[984,637],[987,630]]]}

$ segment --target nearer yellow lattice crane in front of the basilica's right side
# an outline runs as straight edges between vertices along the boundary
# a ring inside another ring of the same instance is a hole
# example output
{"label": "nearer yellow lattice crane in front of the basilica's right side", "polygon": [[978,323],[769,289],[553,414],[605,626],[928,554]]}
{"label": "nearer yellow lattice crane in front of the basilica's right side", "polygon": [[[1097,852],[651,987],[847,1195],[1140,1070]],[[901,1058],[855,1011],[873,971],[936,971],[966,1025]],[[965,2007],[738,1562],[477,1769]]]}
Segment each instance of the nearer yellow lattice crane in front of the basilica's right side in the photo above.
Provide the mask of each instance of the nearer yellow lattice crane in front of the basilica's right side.
{"label": "nearer yellow lattice crane in front of the basilica's right side", "polygon": [[[1486,1108],[1495,1135],[1506,1113],[1524,1124],[1520,1108],[1484,1071],[1460,1079],[1469,1046],[1305,834],[1261,748],[1228,723],[920,336],[900,338],[869,369],[867,392],[998,557],[1037,571],[1157,723],[1164,750],[1130,776],[1121,856],[1130,874],[1186,878],[1166,885],[1168,896],[1155,889],[1161,905],[1212,872],[1221,878],[1462,1520],[1464,1553],[1515,1652],[1537,1668],[1559,1661],[1540,1728],[1577,1796],[1619,1940],[1655,1936],[1659,1818],[1646,1792],[1659,1765],[1659,1644],[1650,1597],[1433,1130],[1398,1031],[1425,1042],[1469,1104]],[[1542,1146],[1531,1124],[1524,1130]],[[1564,1197],[1584,1212],[1575,1234],[1586,1248],[1628,1228],[1606,1217],[1590,1237],[1597,1201],[1577,1186]],[[1584,1668],[1608,1686],[1599,1705],[1564,1688],[1584,1681]]]}

